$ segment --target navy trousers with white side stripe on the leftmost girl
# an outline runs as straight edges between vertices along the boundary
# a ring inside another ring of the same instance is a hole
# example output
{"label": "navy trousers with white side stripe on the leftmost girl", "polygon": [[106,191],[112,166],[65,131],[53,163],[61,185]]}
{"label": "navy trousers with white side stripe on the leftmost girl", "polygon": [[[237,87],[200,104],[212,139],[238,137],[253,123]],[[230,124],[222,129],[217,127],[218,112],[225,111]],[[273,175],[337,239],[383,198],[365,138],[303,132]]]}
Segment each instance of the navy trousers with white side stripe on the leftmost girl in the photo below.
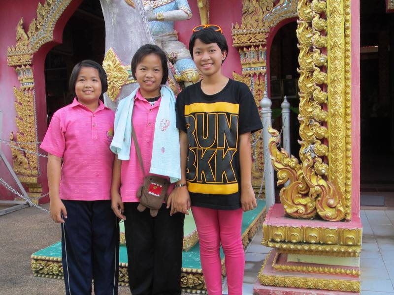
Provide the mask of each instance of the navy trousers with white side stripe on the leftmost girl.
{"label": "navy trousers with white side stripe on the leftmost girl", "polygon": [[111,201],[62,200],[62,261],[66,295],[117,295],[119,222]]}

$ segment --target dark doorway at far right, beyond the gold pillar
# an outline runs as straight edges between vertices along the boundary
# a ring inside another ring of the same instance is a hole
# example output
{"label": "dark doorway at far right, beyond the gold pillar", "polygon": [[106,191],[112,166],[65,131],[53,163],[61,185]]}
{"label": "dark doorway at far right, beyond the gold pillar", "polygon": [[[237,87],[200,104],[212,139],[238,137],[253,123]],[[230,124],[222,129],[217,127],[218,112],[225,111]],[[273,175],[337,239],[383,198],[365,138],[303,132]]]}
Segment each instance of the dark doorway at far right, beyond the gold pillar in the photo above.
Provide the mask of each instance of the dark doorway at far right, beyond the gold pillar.
{"label": "dark doorway at far right, beyond the gold pillar", "polygon": [[361,206],[394,207],[394,14],[360,4]]}

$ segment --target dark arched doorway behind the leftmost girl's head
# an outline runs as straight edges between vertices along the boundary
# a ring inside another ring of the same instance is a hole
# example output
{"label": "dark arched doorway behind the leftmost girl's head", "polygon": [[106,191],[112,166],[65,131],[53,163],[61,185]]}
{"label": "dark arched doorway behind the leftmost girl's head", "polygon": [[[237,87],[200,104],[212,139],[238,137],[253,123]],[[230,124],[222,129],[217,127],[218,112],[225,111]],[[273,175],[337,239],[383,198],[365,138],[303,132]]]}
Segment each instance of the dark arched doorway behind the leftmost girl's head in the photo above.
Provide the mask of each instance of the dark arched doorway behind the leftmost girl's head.
{"label": "dark arched doorway behind the leftmost girl's head", "polygon": [[63,43],[45,59],[48,124],[53,114],[72,102],[68,80],[74,65],[83,59],[102,64],[105,53],[105,24],[99,0],[84,0],[68,20]]}

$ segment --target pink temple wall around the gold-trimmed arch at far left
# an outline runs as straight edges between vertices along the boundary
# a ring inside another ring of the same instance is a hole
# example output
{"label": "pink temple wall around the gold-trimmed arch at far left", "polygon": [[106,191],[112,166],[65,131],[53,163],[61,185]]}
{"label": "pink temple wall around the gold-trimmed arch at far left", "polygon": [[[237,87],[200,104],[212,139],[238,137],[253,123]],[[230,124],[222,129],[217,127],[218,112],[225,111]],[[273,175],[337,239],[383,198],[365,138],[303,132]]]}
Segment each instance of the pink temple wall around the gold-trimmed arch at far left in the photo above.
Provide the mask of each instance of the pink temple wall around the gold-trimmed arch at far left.
{"label": "pink temple wall around the gold-trimmed arch at far left", "polygon": [[[0,100],[0,110],[3,111],[2,121],[2,138],[8,140],[9,133],[18,130],[15,123],[15,96],[13,87],[20,87],[14,67],[7,65],[7,47],[14,46],[16,43],[16,25],[21,17],[23,17],[23,28],[28,30],[29,24],[33,18],[37,17],[38,2],[43,3],[43,0],[21,0],[21,1],[5,1],[2,3],[0,9],[0,28],[2,33],[0,36],[0,87],[2,89],[2,99]],[[63,29],[66,22],[77,9],[82,0],[73,0],[66,8],[60,19],[55,25],[53,40],[43,45],[37,53],[33,56],[33,76],[35,82],[35,110],[37,121],[37,138],[42,141],[47,130],[47,114],[46,114],[46,96],[45,96],[45,77],[44,77],[44,62],[49,50],[62,43]],[[12,165],[11,151],[8,147],[2,145],[2,151],[6,155],[7,160]],[[38,152],[43,153],[41,149]],[[47,174],[46,174],[46,158],[39,158],[39,182],[43,186],[43,194],[48,191]],[[7,183],[10,183],[16,188],[16,184],[9,175],[8,170],[1,166],[0,177],[3,177]],[[0,200],[13,200],[14,195],[8,193],[2,186],[0,187]],[[40,203],[46,203],[49,198],[46,197],[40,200]]]}

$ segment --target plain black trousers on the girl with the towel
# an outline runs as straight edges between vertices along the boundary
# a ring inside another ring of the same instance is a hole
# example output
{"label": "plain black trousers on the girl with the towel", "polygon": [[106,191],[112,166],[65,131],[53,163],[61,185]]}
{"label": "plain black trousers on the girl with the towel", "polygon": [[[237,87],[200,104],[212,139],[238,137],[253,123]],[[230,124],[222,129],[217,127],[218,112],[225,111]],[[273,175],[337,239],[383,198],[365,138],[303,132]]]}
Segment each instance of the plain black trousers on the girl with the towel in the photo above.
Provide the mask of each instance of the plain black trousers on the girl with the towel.
{"label": "plain black trousers on the girl with the towel", "polygon": [[169,215],[165,204],[156,217],[138,203],[125,205],[125,235],[132,295],[180,295],[185,215]]}

